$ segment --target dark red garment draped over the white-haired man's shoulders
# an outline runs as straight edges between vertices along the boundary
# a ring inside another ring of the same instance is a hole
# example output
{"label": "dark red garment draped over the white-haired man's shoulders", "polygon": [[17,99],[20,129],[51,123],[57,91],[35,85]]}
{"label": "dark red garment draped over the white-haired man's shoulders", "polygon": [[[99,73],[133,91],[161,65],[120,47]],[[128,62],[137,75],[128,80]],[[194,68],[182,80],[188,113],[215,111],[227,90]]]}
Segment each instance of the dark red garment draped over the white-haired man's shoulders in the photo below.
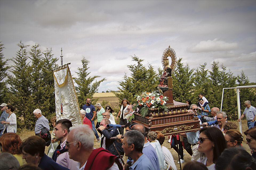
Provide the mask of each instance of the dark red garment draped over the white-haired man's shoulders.
{"label": "dark red garment draped over the white-haired man's shoulders", "polygon": [[122,164],[119,162],[115,155],[112,155],[108,150],[100,147],[98,149],[94,149],[93,152],[91,152],[84,170],[107,170],[112,167],[114,163],[117,163],[120,170],[123,169]]}

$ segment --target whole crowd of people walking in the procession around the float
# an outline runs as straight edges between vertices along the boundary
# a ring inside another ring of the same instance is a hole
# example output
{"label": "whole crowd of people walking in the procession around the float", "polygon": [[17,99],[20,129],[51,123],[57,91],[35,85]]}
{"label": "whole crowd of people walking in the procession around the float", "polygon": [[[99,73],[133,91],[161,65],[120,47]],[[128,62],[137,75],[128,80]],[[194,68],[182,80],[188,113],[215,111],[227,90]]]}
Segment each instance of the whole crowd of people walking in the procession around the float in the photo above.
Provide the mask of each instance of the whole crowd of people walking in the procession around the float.
{"label": "whole crowd of people walking in the procession around the float", "polygon": [[[210,109],[203,94],[199,94],[197,105],[189,99],[186,103],[189,104],[187,112],[198,117],[201,128],[170,135],[168,141],[179,155],[179,164],[185,163],[183,147],[191,156],[183,169],[256,169],[256,110],[250,101],[245,101],[246,109],[241,118],[245,116],[247,120],[248,130],[244,134],[251,154],[243,148],[243,135],[236,124],[227,121],[226,112],[220,112],[217,107]],[[51,134],[49,121],[40,109],[35,109],[35,135],[23,141],[17,134],[15,108],[5,103],[0,107],[1,169],[177,169],[170,150],[163,146],[165,136],[160,131],[147,133],[145,126],[126,119],[128,113],[135,112],[127,99],[122,100],[114,118],[110,106],[105,109],[100,103],[94,106],[88,98],[80,111],[82,125],[72,126],[70,120],[57,121],[54,116],[50,119]],[[94,118],[97,118],[96,125]],[[94,148],[94,136],[101,147]],[[47,155],[46,146],[49,146]],[[124,155],[127,161],[123,160]],[[27,164],[23,165],[23,159]]]}

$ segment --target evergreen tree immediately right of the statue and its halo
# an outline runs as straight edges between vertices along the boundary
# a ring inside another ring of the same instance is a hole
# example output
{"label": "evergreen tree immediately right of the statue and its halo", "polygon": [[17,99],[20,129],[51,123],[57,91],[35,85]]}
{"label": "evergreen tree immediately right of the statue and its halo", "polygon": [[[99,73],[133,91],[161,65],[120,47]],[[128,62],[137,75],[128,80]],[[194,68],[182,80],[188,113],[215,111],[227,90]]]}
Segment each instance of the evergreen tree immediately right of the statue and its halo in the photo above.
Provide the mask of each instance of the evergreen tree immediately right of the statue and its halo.
{"label": "evergreen tree immediately right of the statue and its halo", "polygon": [[189,65],[183,65],[182,58],[177,61],[177,67],[173,77],[173,97],[175,101],[185,103],[186,99],[191,99],[193,91],[194,69],[190,69]]}

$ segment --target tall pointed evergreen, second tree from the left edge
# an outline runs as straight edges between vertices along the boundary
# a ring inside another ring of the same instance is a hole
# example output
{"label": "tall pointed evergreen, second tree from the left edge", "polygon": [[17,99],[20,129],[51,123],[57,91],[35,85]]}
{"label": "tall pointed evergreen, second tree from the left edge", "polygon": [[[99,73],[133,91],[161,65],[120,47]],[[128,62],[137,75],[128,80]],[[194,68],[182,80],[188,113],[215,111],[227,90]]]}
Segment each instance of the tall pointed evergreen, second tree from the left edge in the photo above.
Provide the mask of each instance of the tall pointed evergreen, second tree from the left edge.
{"label": "tall pointed evergreen, second tree from the left edge", "polygon": [[[16,57],[12,58],[14,65],[10,70],[12,75],[8,76],[12,97],[10,103],[17,109],[17,121],[19,127],[29,128],[27,121],[31,120],[31,112],[34,107],[33,97],[31,96],[32,68],[27,62],[27,46],[23,43],[17,44],[19,50]],[[23,120],[23,121],[21,121]]]}

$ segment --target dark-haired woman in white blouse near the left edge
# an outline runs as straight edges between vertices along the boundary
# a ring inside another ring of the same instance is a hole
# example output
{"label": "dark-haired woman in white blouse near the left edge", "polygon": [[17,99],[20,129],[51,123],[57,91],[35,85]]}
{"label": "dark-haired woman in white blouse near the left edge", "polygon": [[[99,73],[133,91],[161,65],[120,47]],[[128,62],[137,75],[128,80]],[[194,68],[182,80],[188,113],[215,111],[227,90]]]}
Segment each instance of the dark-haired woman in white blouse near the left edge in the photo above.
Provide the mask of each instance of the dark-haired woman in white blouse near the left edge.
{"label": "dark-haired woman in white blouse near the left edge", "polygon": [[6,105],[6,113],[9,114],[8,118],[6,119],[6,121],[1,121],[2,124],[6,124],[6,130],[5,132],[17,132],[17,119],[16,119],[16,115],[15,113],[13,113],[15,110],[15,108],[8,104]]}

